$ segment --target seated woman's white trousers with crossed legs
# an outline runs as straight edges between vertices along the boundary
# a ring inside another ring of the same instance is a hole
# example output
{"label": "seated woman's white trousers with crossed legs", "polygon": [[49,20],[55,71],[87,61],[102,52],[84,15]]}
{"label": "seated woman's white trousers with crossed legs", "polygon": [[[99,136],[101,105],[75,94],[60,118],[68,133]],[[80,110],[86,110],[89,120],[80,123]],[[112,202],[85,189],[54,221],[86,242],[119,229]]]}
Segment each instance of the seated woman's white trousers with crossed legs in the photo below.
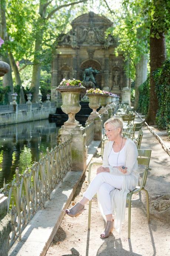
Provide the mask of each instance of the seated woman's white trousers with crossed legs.
{"label": "seated woman's white trousers with crossed legs", "polygon": [[99,173],[91,181],[84,197],[91,200],[98,192],[98,200],[103,209],[104,215],[112,214],[110,192],[115,188],[121,189],[123,185],[123,176],[112,175],[110,173]]}

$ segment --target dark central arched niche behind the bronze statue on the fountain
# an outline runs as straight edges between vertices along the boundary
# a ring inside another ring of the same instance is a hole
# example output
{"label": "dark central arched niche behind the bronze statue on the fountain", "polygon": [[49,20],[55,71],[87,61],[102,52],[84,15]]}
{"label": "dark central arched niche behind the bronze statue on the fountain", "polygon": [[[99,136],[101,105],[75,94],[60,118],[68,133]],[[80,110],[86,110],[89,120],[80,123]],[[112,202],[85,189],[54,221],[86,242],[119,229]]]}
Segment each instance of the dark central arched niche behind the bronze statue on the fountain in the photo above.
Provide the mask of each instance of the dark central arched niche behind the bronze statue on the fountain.
{"label": "dark central arched niche behind the bronze statue on the fountain", "polygon": [[101,64],[97,61],[97,60],[85,60],[81,63],[80,65],[80,80],[83,80],[83,73],[84,73],[84,69],[86,68],[93,68],[93,69],[97,69],[98,71],[100,71],[99,74],[95,75],[95,80],[96,80],[96,84],[97,87],[101,88]]}

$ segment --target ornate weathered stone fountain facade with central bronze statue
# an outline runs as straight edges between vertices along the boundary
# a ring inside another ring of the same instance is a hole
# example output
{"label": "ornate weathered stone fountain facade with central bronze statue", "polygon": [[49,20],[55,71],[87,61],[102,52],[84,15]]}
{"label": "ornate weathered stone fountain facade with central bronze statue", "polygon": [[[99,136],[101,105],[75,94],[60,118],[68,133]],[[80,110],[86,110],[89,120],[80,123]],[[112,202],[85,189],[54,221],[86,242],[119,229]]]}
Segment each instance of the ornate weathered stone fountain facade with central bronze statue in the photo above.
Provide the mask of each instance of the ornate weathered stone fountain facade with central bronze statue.
{"label": "ornate weathered stone fountain facade with central bronze statue", "polygon": [[[112,25],[106,17],[89,12],[74,19],[67,34],[59,35],[52,62],[52,101],[56,101],[55,89],[61,80],[75,78],[85,81],[87,89],[113,92],[123,98],[123,103],[130,104],[130,79],[124,71],[123,54],[116,57],[117,39],[105,36]],[[57,102],[61,102],[60,94]]]}

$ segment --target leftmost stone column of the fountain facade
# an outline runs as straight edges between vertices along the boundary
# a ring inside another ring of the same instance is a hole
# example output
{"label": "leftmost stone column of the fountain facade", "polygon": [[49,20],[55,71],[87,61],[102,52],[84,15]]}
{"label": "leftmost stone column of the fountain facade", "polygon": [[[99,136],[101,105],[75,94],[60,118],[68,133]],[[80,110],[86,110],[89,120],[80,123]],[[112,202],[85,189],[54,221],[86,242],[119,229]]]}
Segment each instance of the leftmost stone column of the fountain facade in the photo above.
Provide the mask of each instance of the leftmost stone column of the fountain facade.
{"label": "leftmost stone column of the fountain facade", "polygon": [[55,52],[52,62],[52,76],[51,76],[51,102],[56,102],[56,87],[59,85],[58,81],[58,54]]}

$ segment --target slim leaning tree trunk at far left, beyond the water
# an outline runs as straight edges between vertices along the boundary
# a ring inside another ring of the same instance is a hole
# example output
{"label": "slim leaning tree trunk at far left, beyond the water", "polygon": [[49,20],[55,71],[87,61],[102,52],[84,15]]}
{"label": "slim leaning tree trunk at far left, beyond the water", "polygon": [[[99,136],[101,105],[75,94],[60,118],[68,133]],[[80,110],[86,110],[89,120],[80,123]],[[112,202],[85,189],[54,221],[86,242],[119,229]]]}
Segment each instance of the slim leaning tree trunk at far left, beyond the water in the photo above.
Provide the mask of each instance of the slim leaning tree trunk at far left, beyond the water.
{"label": "slim leaning tree trunk at far left, beyond the water", "polygon": [[23,91],[23,86],[22,86],[22,82],[21,82],[21,78],[20,78],[20,73],[19,73],[18,67],[16,65],[16,62],[14,60],[13,54],[11,52],[9,53],[9,59],[10,59],[12,70],[14,72],[16,85],[20,85],[20,104],[24,104],[24,103],[26,103],[26,100],[24,97],[24,91]]}

